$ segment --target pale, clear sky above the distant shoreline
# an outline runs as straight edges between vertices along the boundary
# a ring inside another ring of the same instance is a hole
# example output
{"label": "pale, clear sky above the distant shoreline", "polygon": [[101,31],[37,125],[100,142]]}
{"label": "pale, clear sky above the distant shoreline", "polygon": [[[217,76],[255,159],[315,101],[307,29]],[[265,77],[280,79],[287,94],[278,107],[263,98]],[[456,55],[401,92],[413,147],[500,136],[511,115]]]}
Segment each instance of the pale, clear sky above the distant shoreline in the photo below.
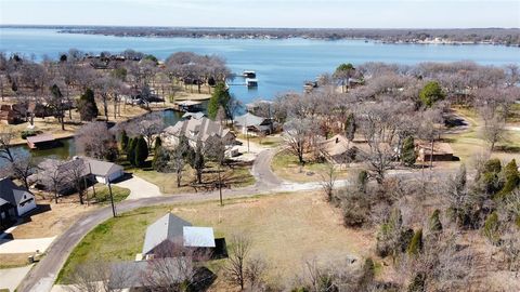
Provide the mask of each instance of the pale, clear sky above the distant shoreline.
{"label": "pale, clear sky above the distant shoreline", "polygon": [[520,0],[0,0],[0,25],[520,27]]}

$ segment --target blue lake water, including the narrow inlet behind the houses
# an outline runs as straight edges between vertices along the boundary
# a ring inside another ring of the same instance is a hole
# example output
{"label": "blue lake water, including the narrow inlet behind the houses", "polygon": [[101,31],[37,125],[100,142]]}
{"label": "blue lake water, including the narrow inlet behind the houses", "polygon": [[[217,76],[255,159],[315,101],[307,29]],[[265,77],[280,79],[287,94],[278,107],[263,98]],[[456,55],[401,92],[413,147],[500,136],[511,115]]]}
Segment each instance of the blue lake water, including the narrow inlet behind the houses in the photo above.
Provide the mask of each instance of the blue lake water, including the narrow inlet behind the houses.
{"label": "blue lake water, including the narrow inlet behind the houses", "polygon": [[[214,39],[214,38],[121,38],[96,35],[57,34],[55,29],[0,28],[0,51],[21,53],[40,61],[44,55],[57,58],[58,53],[76,48],[83,52],[113,53],[133,49],[165,59],[174,52],[191,51],[224,57],[233,72],[256,70],[258,89],[232,85],[231,92],[242,102],[271,99],[277,93],[302,91],[306,80],[332,72],[341,63],[365,62],[417,64],[470,59],[485,65],[520,62],[520,49],[498,45],[384,44],[363,40],[309,39]],[[236,83],[240,82],[239,79]],[[165,122],[173,124],[178,114],[165,111]],[[28,151],[18,147],[18,151]],[[75,154],[74,142],[64,147],[34,151],[35,156],[65,158]]]}

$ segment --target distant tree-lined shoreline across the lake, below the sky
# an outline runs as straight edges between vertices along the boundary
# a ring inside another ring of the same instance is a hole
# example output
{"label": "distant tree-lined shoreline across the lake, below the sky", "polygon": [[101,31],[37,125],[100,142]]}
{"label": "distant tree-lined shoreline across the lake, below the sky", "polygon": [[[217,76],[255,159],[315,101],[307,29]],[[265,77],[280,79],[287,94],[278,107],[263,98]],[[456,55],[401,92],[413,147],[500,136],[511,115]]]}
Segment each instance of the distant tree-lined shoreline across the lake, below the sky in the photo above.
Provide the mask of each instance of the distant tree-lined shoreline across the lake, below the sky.
{"label": "distant tree-lined shoreline across the lake, below the sky", "polygon": [[365,40],[394,44],[490,44],[520,48],[520,28],[238,28],[0,25],[56,29],[58,34],[136,38]]}

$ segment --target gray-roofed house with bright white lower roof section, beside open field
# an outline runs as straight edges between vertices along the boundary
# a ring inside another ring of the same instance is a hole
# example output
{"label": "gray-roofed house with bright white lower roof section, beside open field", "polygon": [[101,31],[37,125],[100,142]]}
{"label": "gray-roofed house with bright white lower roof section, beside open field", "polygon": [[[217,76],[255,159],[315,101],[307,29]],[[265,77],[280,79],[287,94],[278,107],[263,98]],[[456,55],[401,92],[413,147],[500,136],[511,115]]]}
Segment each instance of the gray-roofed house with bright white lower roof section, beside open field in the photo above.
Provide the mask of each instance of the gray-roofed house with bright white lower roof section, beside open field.
{"label": "gray-roofed house with bright white lower roof section, beside open field", "polygon": [[150,257],[161,244],[168,242],[195,249],[216,247],[213,228],[194,227],[190,222],[168,213],[146,228],[142,256]]}

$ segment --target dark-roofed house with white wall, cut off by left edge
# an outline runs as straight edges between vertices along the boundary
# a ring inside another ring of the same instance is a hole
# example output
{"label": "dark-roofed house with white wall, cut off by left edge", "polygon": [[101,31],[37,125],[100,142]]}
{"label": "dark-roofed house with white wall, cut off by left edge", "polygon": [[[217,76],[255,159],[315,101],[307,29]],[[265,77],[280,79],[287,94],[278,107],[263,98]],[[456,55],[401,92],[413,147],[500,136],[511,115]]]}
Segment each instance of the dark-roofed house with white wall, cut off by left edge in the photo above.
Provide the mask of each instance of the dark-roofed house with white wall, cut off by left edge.
{"label": "dark-roofed house with white wall, cut off by left edge", "polygon": [[0,180],[0,199],[2,199],[2,209],[9,210],[6,214],[0,214],[2,216],[23,216],[36,208],[35,196],[27,189],[15,185],[10,178]]}

